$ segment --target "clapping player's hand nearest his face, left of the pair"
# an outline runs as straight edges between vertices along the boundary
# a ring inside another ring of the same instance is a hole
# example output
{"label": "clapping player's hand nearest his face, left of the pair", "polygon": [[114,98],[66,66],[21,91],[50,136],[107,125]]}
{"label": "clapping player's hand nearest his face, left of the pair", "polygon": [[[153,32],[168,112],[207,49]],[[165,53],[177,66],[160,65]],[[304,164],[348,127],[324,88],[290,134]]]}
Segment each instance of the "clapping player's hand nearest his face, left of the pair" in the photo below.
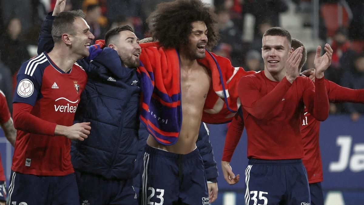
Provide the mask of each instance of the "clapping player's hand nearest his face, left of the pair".
{"label": "clapping player's hand nearest his face, left of the pair", "polygon": [[288,59],[286,62],[286,78],[290,83],[293,83],[296,80],[299,70],[298,67],[302,58],[302,46],[298,47],[293,53],[288,54]]}

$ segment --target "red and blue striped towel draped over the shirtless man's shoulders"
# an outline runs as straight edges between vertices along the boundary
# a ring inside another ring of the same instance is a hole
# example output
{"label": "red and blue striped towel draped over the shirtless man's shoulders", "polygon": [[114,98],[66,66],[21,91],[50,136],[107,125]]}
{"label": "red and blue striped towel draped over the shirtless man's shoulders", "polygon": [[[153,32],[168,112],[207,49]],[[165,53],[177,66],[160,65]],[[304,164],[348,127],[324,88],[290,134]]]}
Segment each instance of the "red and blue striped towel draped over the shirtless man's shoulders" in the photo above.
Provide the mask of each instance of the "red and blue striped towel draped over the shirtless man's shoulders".
{"label": "red and blue striped towel draped over the shirtless man's shoulders", "polygon": [[[161,144],[172,145],[177,142],[182,126],[178,52],[175,49],[165,49],[158,42],[140,45],[140,119],[155,140]],[[103,47],[104,40],[97,40],[96,45],[90,47],[89,58],[98,55]],[[240,107],[237,84],[242,76],[255,71],[233,67],[229,59],[207,50],[206,57],[197,61],[210,69],[212,79],[212,86],[203,107],[202,121],[210,124],[231,121]]]}

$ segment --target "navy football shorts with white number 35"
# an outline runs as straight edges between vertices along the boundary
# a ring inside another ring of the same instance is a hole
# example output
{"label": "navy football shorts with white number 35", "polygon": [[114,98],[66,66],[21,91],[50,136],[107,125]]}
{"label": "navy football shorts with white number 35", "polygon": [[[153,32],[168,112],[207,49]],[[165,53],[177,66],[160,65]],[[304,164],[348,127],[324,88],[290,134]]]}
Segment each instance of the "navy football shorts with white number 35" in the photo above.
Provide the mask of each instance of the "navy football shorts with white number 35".
{"label": "navy football shorts with white number 35", "polygon": [[310,204],[307,173],[301,159],[249,159],[245,184],[247,205]]}

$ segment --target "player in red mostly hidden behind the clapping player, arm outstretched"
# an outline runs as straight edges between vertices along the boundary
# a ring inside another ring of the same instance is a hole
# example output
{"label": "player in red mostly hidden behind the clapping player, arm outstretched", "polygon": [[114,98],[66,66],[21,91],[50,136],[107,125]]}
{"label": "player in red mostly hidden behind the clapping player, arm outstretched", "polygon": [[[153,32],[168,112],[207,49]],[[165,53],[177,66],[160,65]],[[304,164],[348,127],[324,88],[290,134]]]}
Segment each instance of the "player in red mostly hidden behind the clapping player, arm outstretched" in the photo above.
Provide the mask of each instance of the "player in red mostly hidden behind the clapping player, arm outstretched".
{"label": "player in red mostly hidden behind the clapping player, arm outstretched", "polygon": [[[304,44],[297,39],[292,39],[292,48],[303,47]],[[307,51],[302,51],[299,69],[306,62]],[[313,69],[312,69],[313,70]],[[313,71],[314,72],[314,71]],[[325,79],[325,85],[329,102],[356,102],[364,103],[364,89],[350,89],[335,84]],[[319,144],[320,121],[316,120],[305,108],[303,120],[301,123],[301,134],[304,146],[305,156],[302,159],[307,170],[308,183],[310,186],[311,205],[324,205],[324,196],[321,188],[323,181],[323,171]]]}

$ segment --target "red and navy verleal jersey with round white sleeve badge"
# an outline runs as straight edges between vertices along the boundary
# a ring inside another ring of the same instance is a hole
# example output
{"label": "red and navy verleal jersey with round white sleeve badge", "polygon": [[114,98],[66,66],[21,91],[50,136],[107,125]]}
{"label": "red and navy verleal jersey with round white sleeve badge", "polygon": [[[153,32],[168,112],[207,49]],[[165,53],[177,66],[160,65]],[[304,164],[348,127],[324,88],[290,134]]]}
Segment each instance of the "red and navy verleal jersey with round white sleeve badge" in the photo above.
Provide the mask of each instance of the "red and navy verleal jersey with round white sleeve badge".
{"label": "red and navy verleal jersey with round white sleeve badge", "polygon": [[[23,63],[17,74],[13,102],[33,106],[31,114],[58,125],[71,126],[87,81],[86,72],[75,63],[62,71],[47,53]],[[18,130],[12,170],[23,174],[62,176],[73,173],[71,140]]]}

